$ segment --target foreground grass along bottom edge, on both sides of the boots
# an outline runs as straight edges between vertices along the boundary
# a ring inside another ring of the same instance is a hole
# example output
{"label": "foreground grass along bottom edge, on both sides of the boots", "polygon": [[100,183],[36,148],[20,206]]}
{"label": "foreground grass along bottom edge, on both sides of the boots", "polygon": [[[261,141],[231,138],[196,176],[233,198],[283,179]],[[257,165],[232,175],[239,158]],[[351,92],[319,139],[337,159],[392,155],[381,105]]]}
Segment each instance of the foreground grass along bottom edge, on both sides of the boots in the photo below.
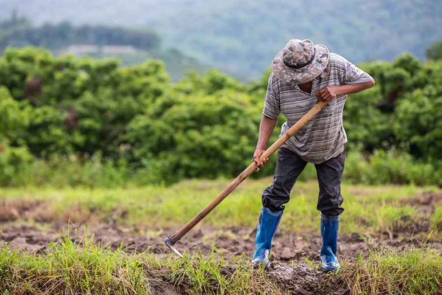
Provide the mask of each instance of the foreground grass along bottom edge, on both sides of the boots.
{"label": "foreground grass along bottom edge, on both sides of the boots", "polygon": [[[79,246],[79,244],[81,246]],[[280,282],[248,259],[229,263],[222,253],[161,259],[149,250],[127,254],[100,248],[84,236],[59,237],[46,255],[0,248],[0,294],[283,294]],[[309,264],[309,267],[318,267]],[[400,253],[371,250],[342,263],[342,270],[317,275],[318,288],[348,288],[351,294],[441,294],[441,252],[429,246]],[[279,285],[278,285],[279,284]],[[331,284],[331,285],[330,285]]]}

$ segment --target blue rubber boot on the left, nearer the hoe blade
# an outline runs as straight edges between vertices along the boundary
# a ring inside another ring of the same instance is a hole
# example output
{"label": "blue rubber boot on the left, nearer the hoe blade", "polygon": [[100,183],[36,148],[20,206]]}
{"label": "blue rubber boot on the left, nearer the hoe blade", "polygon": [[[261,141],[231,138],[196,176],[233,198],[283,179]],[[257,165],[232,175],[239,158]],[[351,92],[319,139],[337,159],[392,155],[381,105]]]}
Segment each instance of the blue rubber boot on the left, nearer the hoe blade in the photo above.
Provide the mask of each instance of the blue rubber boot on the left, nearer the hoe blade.
{"label": "blue rubber boot on the left, nearer the hoe blade", "polygon": [[269,263],[272,239],[273,236],[275,236],[276,229],[281,220],[282,212],[282,210],[272,212],[267,207],[261,208],[261,215],[259,215],[259,223],[256,230],[256,251],[253,255],[251,264],[267,265]]}

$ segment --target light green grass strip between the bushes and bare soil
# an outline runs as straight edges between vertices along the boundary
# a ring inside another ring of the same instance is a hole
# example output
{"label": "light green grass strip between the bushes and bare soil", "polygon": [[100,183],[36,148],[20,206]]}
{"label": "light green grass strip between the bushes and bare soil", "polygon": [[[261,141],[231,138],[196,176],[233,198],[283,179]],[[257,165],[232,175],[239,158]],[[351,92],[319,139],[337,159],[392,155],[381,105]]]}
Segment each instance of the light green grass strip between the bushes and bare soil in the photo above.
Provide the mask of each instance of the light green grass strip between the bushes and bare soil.
{"label": "light green grass strip between the bushes and bare soil", "polygon": [[[204,226],[254,227],[261,207],[262,191],[271,178],[247,180],[216,207],[205,219]],[[149,230],[182,226],[212,201],[229,180],[188,180],[170,187],[140,188],[2,188],[1,199],[29,199],[48,202],[49,212],[56,221],[74,222],[88,218],[120,225],[138,225]],[[340,234],[364,232],[368,234],[401,230],[412,220],[429,220],[434,235],[441,231],[442,211],[421,212],[419,206],[404,201],[441,190],[436,187],[413,185],[367,186],[343,184],[344,213]],[[296,233],[316,233],[319,211],[316,210],[318,184],[316,181],[298,182],[287,204],[280,228]],[[46,210],[45,210],[46,211]],[[48,214],[48,212],[45,212]],[[64,219],[63,219],[64,218]],[[429,229],[429,230],[431,230]]]}

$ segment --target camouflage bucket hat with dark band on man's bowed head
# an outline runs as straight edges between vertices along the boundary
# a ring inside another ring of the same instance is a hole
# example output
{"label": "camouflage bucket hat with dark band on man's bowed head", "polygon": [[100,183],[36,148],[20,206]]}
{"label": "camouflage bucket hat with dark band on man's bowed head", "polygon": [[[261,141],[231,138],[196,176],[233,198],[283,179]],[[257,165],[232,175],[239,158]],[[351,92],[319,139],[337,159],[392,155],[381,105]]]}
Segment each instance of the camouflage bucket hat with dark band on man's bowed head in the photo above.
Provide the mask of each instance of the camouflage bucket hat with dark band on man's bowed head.
{"label": "camouflage bucket hat with dark band on man's bowed head", "polygon": [[280,80],[302,84],[318,77],[329,63],[329,50],[310,40],[290,40],[276,55],[272,71]]}

